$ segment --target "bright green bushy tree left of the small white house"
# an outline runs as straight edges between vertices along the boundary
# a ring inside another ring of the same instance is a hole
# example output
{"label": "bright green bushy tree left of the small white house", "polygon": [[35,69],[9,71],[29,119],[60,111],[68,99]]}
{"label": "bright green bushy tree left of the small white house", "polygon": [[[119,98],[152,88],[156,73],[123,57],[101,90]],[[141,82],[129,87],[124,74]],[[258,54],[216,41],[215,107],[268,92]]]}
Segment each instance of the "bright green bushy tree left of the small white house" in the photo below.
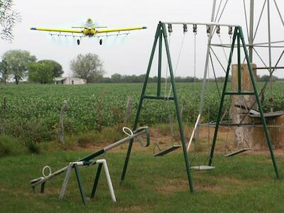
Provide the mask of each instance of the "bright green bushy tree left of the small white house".
{"label": "bright green bushy tree left of the small white house", "polygon": [[53,65],[50,62],[36,62],[28,66],[28,81],[48,84],[53,82]]}

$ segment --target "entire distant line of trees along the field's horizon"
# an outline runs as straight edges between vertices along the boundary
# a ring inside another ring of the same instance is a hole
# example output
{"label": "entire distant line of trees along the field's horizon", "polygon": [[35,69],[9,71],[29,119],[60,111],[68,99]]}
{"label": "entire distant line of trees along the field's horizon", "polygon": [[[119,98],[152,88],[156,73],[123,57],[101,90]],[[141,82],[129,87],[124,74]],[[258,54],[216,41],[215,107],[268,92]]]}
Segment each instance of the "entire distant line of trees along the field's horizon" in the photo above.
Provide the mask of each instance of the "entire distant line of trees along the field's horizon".
{"label": "entire distant line of trees along the field's horizon", "polygon": [[[115,73],[111,77],[104,77],[105,71],[103,62],[99,55],[95,53],[79,54],[70,61],[70,70],[73,77],[80,77],[87,80],[88,83],[104,82],[104,83],[141,83],[146,75],[121,75]],[[64,71],[62,65],[54,60],[37,60],[34,55],[31,55],[26,50],[9,50],[2,55],[0,62],[0,80],[6,83],[14,80],[18,84],[21,80],[28,82],[48,84],[55,80],[55,77],[61,77]],[[269,80],[268,75],[258,76],[259,82]],[[281,80],[273,76],[273,81]],[[165,82],[165,77],[162,77],[162,82]],[[170,82],[170,77],[167,79]],[[202,82],[201,78],[197,77],[175,77],[176,82]],[[224,82],[224,77],[210,78],[208,82]],[[231,76],[229,76],[231,81]],[[158,82],[158,77],[149,77],[148,82]]]}

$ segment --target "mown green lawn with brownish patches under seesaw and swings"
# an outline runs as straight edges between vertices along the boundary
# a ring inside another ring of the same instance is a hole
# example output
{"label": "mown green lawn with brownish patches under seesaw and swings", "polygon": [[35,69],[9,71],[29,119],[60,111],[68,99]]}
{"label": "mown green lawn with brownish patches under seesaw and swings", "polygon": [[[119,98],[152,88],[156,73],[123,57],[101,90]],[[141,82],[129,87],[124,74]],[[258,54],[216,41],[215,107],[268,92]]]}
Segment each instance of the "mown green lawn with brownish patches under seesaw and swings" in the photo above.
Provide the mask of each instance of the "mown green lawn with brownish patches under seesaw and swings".
{"label": "mown green lawn with brownish patches under seesaw and swings", "polygon": [[[102,173],[94,200],[87,200],[85,206],[74,171],[62,201],[58,196],[65,175],[47,182],[45,194],[34,194],[29,181],[41,175],[44,165],[55,171],[91,151],[0,158],[0,212],[284,212],[284,181],[275,179],[269,155],[215,155],[215,170],[192,171],[192,194],[180,151],[154,158],[149,149],[134,148],[126,181],[120,185],[125,151],[126,146],[103,156],[109,164],[118,202],[111,201]],[[200,162],[204,162],[207,155],[199,155]],[[277,160],[283,176],[284,158],[277,156]],[[97,165],[80,169],[88,197],[96,170]]]}

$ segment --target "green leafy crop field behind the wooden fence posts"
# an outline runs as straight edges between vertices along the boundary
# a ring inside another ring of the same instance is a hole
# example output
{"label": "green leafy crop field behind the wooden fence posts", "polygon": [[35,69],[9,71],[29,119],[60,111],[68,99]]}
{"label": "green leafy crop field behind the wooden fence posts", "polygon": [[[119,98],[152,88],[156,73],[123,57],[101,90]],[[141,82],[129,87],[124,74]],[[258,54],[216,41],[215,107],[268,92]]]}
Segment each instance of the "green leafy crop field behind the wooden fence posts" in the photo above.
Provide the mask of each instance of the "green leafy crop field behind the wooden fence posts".
{"label": "green leafy crop field behind the wooden fence posts", "polygon": [[[261,88],[263,84],[259,83]],[[164,89],[163,85],[163,89]],[[201,83],[178,83],[178,97],[182,121],[192,124],[197,118],[200,104]],[[230,85],[229,85],[230,87]],[[275,82],[274,109],[284,109],[284,82]],[[204,121],[214,121],[219,107],[219,94],[213,82],[207,83],[204,102]],[[0,84],[1,131],[16,137],[38,129],[45,141],[53,140],[58,132],[62,103],[67,101],[65,133],[73,135],[95,131],[99,126],[114,126],[124,121],[128,97],[133,97],[133,112],[129,126],[136,115],[142,84],[87,84],[87,85],[40,85]],[[169,88],[168,88],[169,89]],[[163,94],[168,95],[163,91]],[[222,89],[222,84],[219,84]],[[156,84],[148,84],[146,93],[155,95]],[[3,109],[4,97],[6,107]],[[264,110],[268,111],[268,91]],[[226,99],[229,103],[229,99]],[[151,126],[168,122],[168,115],[175,113],[173,102],[145,100],[139,120],[140,125]],[[174,116],[173,116],[174,117]]]}

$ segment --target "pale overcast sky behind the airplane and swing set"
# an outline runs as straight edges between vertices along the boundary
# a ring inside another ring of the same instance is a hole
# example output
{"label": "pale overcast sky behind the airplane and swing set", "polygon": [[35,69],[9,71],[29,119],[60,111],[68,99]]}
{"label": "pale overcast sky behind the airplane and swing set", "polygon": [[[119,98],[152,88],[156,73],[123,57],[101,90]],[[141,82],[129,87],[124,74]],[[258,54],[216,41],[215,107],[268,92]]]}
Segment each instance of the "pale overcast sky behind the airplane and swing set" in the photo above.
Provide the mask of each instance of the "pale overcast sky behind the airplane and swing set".
{"label": "pale overcast sky behind the airplane and swing set", "polygon": [[[256,17],[255,26],[260,15],[264,0],[255,0]],[[153,37],[158,21],[198,21],[209,22],[212,11],[212,0],[118,0],[118,1],[73,1],[73,0],[14,0],[14,9],[21,13],[22,22],[16,25],[13,33],[15,40],[9,44],[1,40],[0,54],[6,50],[21,49],[28,50],[38,60],[50,59],[60,62],[65,71],[65,76],[72,75],[70,71],[70,60],[79,53],[97,53],[104,62],[107,76],[118,72],[121,75],[141,75],[146,72],[148,59],[153,45]],[[278,1],[280,11],[284,13],[284,2]],[[246,7],[249,9],[249,0],[246,0]],[[130,27],[148,26],[147,30],[133,31],[128,36],[120,38],[108,38],[103,45],[99,45],[97,38],[84,38],[81,45],[77,45],[73,38],[51,38],[48,32],[30,31],[30,27],[61,27],[70,28],[82,25],[87,18],[92,18],[101,26]],[[242,0],[229,0],[221,18],[221,23],[238,23],[245,28],[244,5]],[[271,1],[271,24],[272,39],[283,40],[283,26]],[[182,48],[182,56],[177,66],[176,61],[180,52],[183,33],[182,28],[173,27],[171,37],[171,53],[173,65],[178,67],[176,75],[193,76],[194,73],[194,35],[192,26],[185,35],[185,42]],[[256,42],[266,42],[267,16],[264,13],[261,25],[256,36]],[[216,36],[215,36],[216,37]],[[222,43],[229,43],[228,29],[222,28]],[[205,29],[198,28],[197,32],[197,77],[202,77],[204,72],[204,58],[206,53],[207,35]],[[214,43],[220,43],[214,38]],[[278,60],[282,49],[273,50],[273,63]],[[268,63],[268,50],[258,48],[259,54],[264,62]],[[216,53],[222,62],[226,57],[221,48]],[[229,53],[226,53],[227,55]],[[156,62],[156,61],[154,61]],[[163,61],[165,62],[165,60]],[[216,62],[216,61],[215,61]],[[258,66],[263,64],[255,58]],[[284,65],[281,62],[280,65]],[[156,64],[153,64],[155,75]],[[217,75],[224,75],[221,67],[216,65]],[[278,76],[284,77],[282,70]],[[266,72],[259,72],[265,74]],[[212,72],[211,74],[212,75]]]}

